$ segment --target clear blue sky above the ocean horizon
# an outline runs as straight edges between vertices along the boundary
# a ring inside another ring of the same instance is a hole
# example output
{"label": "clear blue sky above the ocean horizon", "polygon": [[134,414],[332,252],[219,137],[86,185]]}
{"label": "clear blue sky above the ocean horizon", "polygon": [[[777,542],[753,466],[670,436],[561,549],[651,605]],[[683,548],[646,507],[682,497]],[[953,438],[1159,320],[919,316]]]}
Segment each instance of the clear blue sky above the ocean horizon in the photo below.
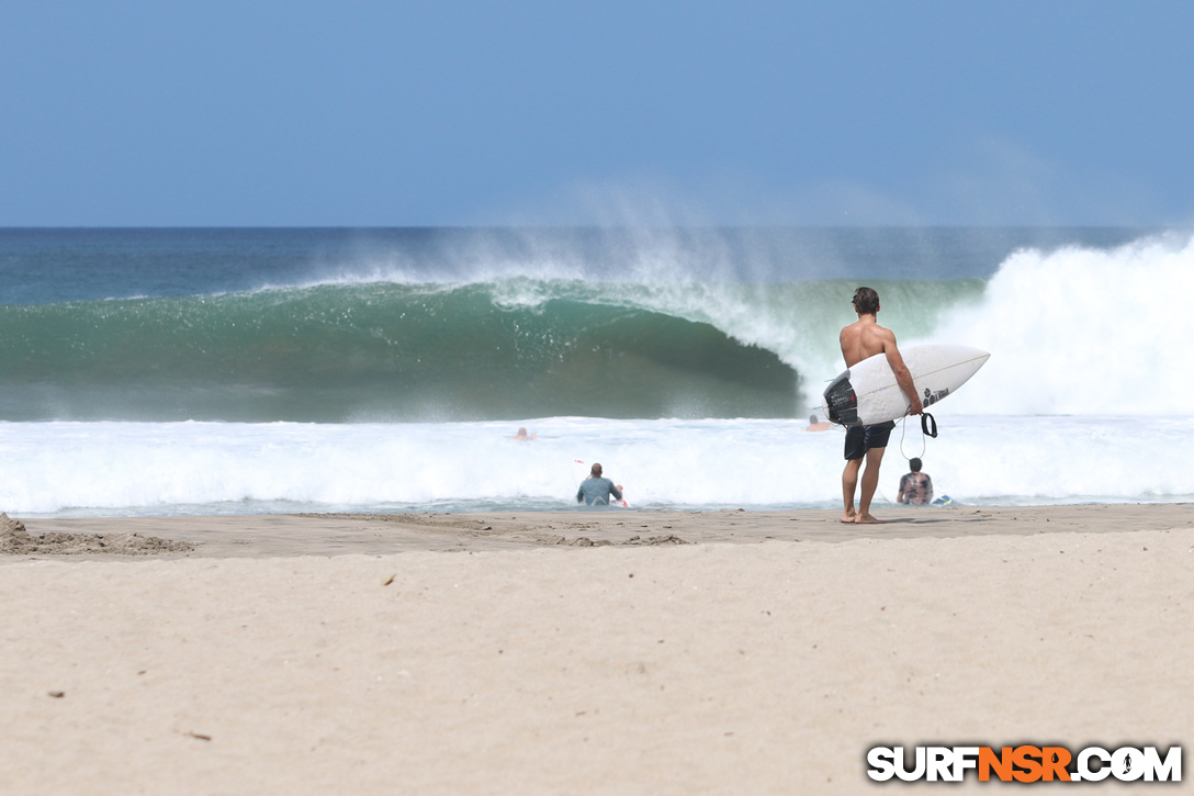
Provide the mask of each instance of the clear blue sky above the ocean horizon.
{"label": "clear blue sky above the ocean horizon", "polygon": [[1194,2],[61,2],[0,226],[1189,225]]}

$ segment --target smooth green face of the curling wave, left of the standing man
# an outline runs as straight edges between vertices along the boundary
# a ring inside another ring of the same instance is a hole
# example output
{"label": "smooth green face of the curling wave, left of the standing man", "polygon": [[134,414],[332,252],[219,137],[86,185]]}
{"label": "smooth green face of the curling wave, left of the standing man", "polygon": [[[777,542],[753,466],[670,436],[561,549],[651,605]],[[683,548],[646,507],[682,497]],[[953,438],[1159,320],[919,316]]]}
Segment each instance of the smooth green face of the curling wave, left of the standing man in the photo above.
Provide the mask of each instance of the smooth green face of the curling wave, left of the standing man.
{"label": "smooth green face of the curling wave, left of the standing man", "polygon": [[[322,286],[0,307],[7,420],[790,417],[799,378],[710,323],[573,284]],[[567,286],[565,286],[567,287]]]}

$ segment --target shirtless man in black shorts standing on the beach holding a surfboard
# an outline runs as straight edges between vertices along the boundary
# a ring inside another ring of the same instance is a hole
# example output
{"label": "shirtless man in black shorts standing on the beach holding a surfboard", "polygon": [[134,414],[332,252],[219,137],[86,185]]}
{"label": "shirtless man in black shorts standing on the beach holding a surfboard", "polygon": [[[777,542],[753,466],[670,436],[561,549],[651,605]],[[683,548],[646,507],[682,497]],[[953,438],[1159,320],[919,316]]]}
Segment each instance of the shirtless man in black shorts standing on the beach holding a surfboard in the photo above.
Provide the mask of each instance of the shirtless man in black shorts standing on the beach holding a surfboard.
{"label": "shirtless man in black shorts standing on the beach holding a surfboard", "polygon": [[[879,294],[868,287],[860,287],[854,293],[854,311],[858,313],[858,320],[845,326],[838,338],[845,367],[853,368],[868,356],[886,354],[887,363],[896,374],[896,382],[912,404],[909,414],[919,415],[924,408],[921,405],[919,396],[916,394],[912,374],[907,372],[904,357],[896,347],[896,335],[879,325]],[[847,429],[845,470],[842,471],[842,498],[845,513],[842,515],[842,522],[867,525],[882,522],[872,516],[870,498],[875,496],[875,488],[879,486],[879,467],[882,465],[887,437],[891,436],[893,428],[896,422],[887,421],[875,425],[851,425]],[[863,459],[867,460],[867,467],[862,471],[862,494],[858,497],[858,512],[855,514],[854,491],[858,485],[858,470]]]}

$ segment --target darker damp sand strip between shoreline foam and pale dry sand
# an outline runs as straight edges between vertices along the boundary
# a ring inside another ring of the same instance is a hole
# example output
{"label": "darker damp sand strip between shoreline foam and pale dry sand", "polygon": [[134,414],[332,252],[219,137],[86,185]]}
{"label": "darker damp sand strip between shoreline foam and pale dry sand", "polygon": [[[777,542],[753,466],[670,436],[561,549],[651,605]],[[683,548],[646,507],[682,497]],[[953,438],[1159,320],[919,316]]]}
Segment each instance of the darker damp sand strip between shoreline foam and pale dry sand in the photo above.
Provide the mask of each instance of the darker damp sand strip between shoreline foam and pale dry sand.
{"label": "darker damp sand strip between shoreline foam and pale dry sand", "polygon": [[[279,514],[24,520],[45,533],[136,533],[195,545],[191,556],[390,555],[411,551],[527,550],[536,546],[919,539],[1058,531],[1194,527],[1194,506],[885,507],[885,525],[841,522],[841,510],[640,512],[623,509],[501,514]],[[635,539],[638,538],[638,539]],[[667,540],[667,541],[675,541]],[[86,552],[86,551],[84,551]],[[156,552],[156,551],[155,551]]]}

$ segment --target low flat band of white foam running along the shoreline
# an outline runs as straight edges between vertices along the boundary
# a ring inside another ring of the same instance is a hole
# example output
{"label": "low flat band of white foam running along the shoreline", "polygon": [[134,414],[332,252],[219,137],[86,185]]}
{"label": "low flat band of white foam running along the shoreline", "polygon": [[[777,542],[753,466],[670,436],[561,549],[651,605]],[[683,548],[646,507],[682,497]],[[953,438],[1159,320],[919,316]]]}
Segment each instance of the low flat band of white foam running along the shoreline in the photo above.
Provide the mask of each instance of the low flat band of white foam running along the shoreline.
{"label": "low flat band of white foam running along the shoreline", "polygon": [[[510,440],[518,425],[535,442]],[[842,434],[805,421],[0,423],[18,514],[567,509],[593,461],[638,508],[835,508]],[[879,503],[919,455],[959,503],[1189,501],[1194,418],[950,417],[897,429]]]}

